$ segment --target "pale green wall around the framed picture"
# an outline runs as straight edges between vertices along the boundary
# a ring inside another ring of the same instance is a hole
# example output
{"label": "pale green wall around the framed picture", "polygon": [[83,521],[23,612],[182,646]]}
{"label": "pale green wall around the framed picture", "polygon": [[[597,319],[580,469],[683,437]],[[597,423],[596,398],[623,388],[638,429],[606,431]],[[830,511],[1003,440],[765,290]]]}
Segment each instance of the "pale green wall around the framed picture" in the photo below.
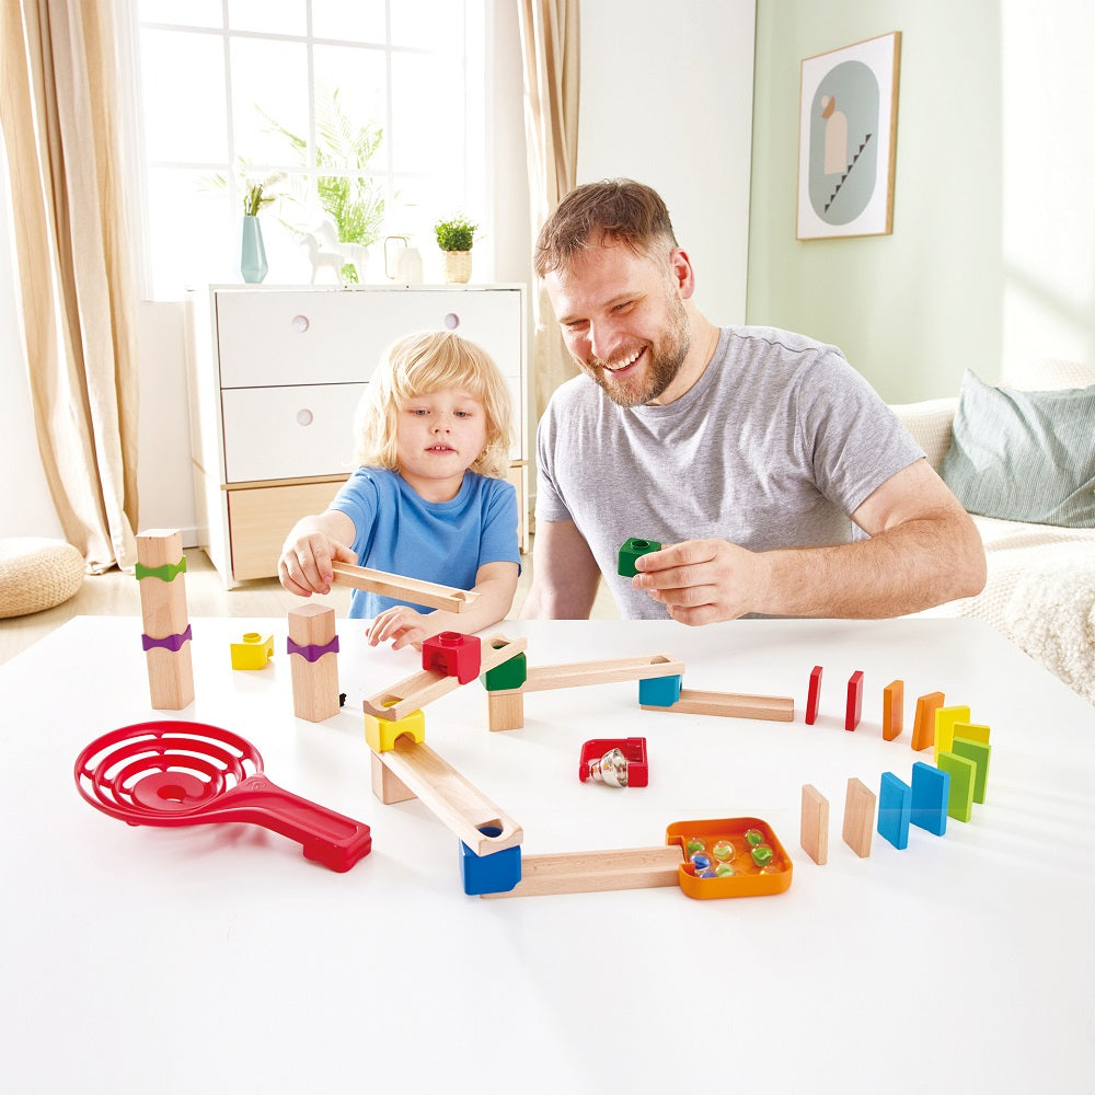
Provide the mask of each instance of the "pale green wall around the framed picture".
{"label": "pale green wall around the framed picture", "polygon": [[[902,32],[894,232],[798,242],[799,66]],[[891,402],[1095,360],[1086,0],[759,0],[748,319],[845,350]]]}

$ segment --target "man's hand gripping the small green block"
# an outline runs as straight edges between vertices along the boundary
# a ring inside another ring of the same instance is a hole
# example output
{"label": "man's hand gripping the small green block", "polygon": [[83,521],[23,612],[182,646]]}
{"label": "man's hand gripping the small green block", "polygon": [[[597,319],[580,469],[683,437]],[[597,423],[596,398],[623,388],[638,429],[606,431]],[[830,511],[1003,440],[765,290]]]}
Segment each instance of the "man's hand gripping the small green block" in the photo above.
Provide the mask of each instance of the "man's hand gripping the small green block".
{"label": "man's hand gripping the small green block", "polygon": [[685,540],[641,555],[635,569],[632,585],[689,625],[756,612],[769,580],[763,555],[726,540]]}

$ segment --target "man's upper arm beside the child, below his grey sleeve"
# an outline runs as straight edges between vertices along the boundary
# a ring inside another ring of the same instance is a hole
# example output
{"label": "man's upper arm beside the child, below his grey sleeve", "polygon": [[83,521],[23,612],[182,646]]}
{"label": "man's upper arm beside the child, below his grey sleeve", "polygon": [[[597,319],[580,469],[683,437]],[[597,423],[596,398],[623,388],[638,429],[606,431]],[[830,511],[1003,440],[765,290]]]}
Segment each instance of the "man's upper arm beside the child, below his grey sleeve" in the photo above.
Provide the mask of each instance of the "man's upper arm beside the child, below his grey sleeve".
{"label": "man's upper arm beside the child, below his grey sleeve", "polygon": [[588,620],[601,572],[574,521],[538,521],[521,620]]}

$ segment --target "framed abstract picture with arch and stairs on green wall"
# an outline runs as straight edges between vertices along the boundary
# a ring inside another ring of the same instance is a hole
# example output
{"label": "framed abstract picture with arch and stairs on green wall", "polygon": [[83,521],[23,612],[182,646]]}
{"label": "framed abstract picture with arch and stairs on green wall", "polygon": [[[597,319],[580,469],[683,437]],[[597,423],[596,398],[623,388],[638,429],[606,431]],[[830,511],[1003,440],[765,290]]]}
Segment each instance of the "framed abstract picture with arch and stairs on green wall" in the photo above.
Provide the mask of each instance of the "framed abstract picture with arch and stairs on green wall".
{"label": "framed abstract picture with arch and stairs on green wall", "polygon": [[900,31],[803,61],[799,240],[894,231],[900,62]]}

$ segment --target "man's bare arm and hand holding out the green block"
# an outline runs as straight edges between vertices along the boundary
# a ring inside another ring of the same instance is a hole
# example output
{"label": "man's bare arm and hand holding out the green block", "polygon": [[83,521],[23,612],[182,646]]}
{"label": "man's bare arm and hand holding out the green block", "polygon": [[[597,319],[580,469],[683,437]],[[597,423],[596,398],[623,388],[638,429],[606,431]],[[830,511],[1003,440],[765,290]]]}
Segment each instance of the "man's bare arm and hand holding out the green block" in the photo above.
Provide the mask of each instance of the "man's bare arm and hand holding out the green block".
{"label": "man's bare arm and hand holding out the green block", "polygon": [[881,619],[984,588],[977,528],[926,460],[883,483],[852,520],[871,539],[759,553],[689,540],[641,556],[633,581],[688,624],[749,612]]}

